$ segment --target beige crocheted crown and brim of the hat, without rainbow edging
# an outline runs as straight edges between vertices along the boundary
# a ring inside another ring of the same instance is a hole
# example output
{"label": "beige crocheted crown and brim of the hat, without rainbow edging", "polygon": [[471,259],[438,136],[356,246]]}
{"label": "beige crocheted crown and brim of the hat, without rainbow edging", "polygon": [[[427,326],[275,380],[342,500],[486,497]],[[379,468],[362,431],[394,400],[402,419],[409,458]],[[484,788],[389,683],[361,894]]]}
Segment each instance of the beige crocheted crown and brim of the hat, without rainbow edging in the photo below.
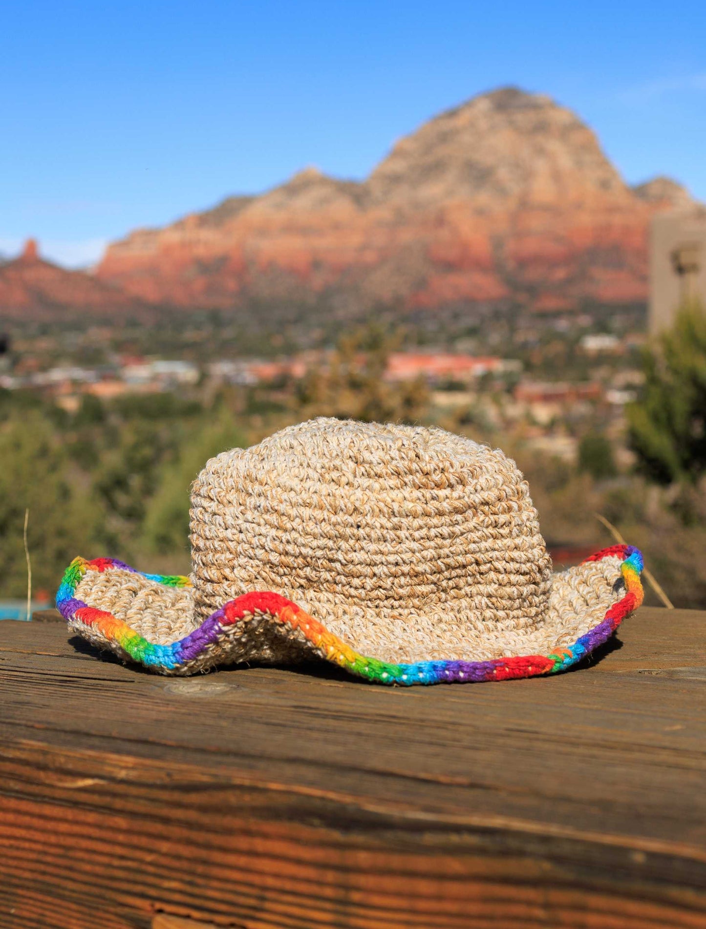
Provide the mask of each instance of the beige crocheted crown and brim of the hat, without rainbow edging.
{"label": "beige crocheted crown and brim of the hat, without rainbow edging", "polygon": [[291,426],[211,459],[190,517],[192,590],[111,570],[76,595],[167,644],[226,601],[273,591],[395,663],[546,655],[621,596],[617,557],[553,575],[516,464],[438,428]]}

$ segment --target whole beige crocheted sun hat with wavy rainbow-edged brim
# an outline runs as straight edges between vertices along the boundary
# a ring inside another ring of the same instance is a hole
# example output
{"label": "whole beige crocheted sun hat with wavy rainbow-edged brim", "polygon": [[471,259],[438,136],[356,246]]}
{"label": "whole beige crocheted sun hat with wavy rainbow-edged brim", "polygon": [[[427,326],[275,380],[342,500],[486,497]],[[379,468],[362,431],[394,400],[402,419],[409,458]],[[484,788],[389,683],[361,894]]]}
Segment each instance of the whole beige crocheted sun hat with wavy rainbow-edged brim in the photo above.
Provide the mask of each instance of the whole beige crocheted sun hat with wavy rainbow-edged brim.
{"label": "whole beige crocheted sun hat with wavy rainbow-edged brim", "polygon": [[381,684],[552,674],[642,602],[615,545],[561,573],[502,451],[438,428],[316,419],[212,458],[189,578],[75,558],[72,629],[160,674],[319,657]]}

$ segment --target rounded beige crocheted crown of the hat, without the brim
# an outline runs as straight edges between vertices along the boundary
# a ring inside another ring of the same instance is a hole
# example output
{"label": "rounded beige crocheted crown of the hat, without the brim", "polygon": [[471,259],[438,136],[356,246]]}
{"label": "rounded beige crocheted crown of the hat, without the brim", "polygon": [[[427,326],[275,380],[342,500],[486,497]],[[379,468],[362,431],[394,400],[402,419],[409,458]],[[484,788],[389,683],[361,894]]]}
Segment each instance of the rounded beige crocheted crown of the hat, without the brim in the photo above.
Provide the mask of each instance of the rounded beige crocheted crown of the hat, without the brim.
{"label": "rounded beige crocheted crown of the hat, without the brim", "polygon": [[194,483],[190,538],[204,617],[271,590],[329,625],[457,608],[515,630],[548,602],[551,560],[515,462],[439,428],[316,419],[223,452]]}

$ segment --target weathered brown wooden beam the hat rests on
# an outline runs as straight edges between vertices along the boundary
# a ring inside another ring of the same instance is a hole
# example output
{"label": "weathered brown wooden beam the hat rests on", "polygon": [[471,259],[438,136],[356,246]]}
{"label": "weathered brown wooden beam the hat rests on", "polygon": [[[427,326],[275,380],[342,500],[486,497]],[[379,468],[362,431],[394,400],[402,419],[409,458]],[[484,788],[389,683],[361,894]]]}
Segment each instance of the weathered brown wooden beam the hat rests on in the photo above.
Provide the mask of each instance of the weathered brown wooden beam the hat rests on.
{"label": "weathered brown wooden beam the hat rests on", "polygon": [[1,927],[706,926],[704,613],[412,689],[159,678],[2,622],[0,707]]}

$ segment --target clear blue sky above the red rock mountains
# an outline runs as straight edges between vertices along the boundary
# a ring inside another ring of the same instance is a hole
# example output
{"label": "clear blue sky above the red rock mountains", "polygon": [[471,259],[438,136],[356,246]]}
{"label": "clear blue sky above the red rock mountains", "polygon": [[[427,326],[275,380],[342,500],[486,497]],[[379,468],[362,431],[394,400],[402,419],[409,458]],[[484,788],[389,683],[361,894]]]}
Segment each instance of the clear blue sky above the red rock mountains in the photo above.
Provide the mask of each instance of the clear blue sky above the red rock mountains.
{"label": "clear blue sky above the red rock mountains", "polygon": [[69,265],[307,164],[364,177],[500,85],[577,111],[626,179],[706,200],[706,3],[8,0],[0,253]]}

